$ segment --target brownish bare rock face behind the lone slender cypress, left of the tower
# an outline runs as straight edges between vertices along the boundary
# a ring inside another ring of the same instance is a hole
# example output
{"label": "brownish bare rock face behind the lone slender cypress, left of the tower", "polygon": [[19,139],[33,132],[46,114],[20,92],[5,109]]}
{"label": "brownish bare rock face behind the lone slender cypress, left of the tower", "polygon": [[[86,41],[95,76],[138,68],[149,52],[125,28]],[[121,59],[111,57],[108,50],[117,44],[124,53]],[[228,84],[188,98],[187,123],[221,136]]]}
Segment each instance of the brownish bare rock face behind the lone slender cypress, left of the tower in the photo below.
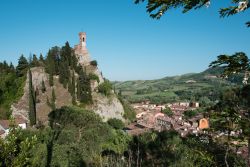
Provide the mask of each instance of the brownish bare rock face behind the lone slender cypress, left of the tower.
{"label": "brownish bare rock face behind the lone slender cypress, left of the tower", "polygon": [[[51,108],[47,104],[47,99],[51,99],[52,89],[54,88],[56,94],[56,107],[60,108],[62,106],[67,106],[72,104],[72,97],[67,89],[59,83],[58,77],[54,77],[54,86],[50,87],[48,81],[48,74],[45,72],[43,67],[34,67],[31,69],[32,73],[32,83],[35,90],[38,91],[37,103],[36,103],[36,114],[37,121],[42,123],[47,123],[48,114]],[[42,93],[42,81],[45,83],[46,92]],[[20,115],[25,119],[29,119],[29,77],[27,74],[27,79],[24,86],[24,94],[21,99],[11,106],[12,115]]]}

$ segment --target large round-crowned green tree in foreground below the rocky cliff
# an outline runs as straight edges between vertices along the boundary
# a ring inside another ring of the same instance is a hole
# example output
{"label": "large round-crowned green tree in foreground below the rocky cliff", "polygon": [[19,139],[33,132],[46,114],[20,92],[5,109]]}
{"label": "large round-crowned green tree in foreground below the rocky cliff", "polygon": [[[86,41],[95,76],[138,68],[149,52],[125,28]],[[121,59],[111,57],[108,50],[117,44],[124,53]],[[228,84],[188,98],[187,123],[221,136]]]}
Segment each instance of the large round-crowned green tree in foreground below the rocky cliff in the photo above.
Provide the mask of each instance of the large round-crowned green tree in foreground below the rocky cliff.
{"label": "large round-crowned green tree in foreground below the rocky cliff", "polygon": [[[92,111],[78,107],[62,107],[49,114],[48,149],[51,163],[47,166],[97,166],[96,156],[110,138],[111,128]],[[65,157],[65,158],[64,158]],[[68,165],[70,163],[70,165]],[[56,165],[57,164],[57,165]]]}

